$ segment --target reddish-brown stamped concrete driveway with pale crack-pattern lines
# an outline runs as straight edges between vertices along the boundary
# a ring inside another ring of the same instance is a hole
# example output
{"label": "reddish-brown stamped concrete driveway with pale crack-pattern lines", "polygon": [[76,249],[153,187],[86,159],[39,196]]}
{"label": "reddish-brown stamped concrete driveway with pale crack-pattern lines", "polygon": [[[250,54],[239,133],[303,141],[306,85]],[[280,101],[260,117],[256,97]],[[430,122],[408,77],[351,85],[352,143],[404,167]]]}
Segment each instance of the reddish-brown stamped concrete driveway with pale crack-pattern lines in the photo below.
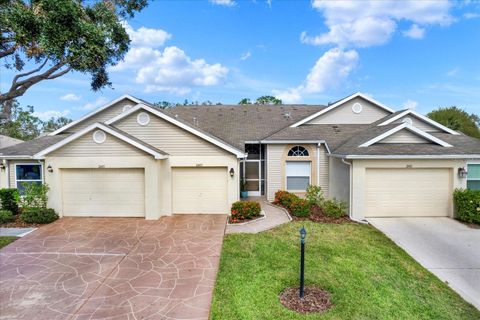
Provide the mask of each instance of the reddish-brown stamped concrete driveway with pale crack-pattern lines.
{"label": "reddish-brown stamped concrete driveway with pale crack-pattern lines", "polygon": [[0,319],[207,319],[226,216],[63,218],[0,251]]}

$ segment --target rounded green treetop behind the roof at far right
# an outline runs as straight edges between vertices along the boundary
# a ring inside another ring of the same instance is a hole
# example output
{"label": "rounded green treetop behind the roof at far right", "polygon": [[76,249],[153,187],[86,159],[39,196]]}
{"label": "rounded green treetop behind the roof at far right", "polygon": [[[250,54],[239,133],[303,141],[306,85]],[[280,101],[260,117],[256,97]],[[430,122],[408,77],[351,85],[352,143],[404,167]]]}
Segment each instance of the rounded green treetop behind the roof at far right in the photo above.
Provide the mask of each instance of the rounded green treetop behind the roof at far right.
{"label": "rounded green treetop behind the roof at far right", "polygon": [[451,106],[433,110],[427,117],[452,130],[480,139],[480,117],[476,114],[469,114],[456,106]]}

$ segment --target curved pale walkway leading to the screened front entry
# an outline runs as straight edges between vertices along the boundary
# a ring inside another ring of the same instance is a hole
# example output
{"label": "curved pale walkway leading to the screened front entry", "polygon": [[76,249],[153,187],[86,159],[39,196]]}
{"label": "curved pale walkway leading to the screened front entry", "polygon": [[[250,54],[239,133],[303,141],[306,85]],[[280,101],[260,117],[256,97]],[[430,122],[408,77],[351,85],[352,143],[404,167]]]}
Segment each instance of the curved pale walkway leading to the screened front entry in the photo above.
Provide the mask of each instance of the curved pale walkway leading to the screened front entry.
{"label": "curved pale walkway leading to the screened front entry", "polygon": [[284,209],[270,204],[265,198],[249,198],[248,200],[260,202],[263,211],[265,211],[265,219],[243,225],[227,225],[225,233],[258,233],[291,221],[290,216]]}

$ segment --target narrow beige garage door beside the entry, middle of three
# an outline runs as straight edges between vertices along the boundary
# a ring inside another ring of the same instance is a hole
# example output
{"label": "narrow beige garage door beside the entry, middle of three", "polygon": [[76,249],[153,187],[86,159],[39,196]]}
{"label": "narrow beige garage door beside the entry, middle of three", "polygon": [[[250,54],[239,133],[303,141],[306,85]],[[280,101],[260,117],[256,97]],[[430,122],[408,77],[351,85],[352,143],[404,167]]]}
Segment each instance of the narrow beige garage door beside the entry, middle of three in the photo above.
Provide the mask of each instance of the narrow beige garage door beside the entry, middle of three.
{"label": "narrow beige garage door beside the entry, middle of three", "polygon": [[227,208],[227,168],[174,168],[173,213],[222,213]]}

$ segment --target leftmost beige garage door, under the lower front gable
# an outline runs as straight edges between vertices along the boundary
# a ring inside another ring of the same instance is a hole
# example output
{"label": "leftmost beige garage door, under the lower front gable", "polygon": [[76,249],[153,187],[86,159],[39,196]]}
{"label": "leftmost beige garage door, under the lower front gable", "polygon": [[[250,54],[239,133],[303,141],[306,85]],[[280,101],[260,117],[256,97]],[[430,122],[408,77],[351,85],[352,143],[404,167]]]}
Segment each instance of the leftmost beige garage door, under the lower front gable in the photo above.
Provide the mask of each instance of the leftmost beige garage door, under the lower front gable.
{"label": "leftmost beige garage door, under the lower front gable", "polygon": [[62,182],[65,216],[145,216],[143,169],[64,169]]}

